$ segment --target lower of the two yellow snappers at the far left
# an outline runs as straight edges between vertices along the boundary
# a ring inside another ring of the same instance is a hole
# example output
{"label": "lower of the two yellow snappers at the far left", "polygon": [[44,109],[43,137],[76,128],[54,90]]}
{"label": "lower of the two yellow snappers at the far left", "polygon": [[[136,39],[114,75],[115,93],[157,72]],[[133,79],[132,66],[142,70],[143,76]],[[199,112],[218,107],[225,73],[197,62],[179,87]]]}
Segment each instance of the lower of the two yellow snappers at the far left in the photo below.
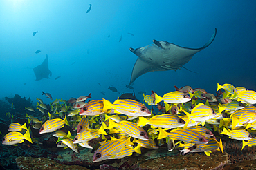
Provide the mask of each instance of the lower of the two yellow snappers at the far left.
{"label": "lower of the two yellow snappers at the far left", "polygon": [[23,135],[20,132],[9,132],[6,136],[3,137],[3,145],[16,145],[18,143],[24,142],[24,139],[28,140],[28,142],[33,143],[30,138],[30,131],[26,131]]}

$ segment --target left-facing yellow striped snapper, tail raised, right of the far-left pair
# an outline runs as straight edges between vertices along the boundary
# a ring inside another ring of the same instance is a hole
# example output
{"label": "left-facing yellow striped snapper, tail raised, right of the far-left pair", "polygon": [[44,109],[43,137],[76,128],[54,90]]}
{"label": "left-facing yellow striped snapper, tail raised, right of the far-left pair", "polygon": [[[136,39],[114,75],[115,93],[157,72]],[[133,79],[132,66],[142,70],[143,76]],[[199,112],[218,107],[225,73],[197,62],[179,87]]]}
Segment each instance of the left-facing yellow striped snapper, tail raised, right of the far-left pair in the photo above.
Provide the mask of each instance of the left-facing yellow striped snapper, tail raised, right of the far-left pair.
{"label": "left-facing yellow striped snapper, tail raised, right of the far-left pair", "polygon": [[50,133],[50,132],[56,131],[57,129],[64,127],[65,124],[69,125],[68,120],[66,120],[66,116],[65,116],[64,120],[62,120],[60,118],[54,118],[54,119],[47,120],[40,128],[39,134],[45,134],[45,133]]}

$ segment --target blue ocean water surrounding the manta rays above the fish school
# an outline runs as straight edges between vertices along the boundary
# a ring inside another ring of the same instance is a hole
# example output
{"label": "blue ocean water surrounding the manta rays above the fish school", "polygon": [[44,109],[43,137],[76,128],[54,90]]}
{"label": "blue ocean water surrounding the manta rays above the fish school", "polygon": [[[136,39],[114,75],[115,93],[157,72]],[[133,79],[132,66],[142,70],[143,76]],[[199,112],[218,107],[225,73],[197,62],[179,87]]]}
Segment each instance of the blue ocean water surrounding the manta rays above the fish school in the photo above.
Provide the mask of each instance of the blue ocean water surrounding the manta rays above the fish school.
{"label": "blue ocean water surrounding the manta rays above the fish school", "polygon": [[[89,4],[91,11],[86,13]],[[143,100],[138,92],[151,94],[151,90],[162,96],[174,91],[174,85],[213,94],[217,83],[256,90],[255,5],[255,1],[0,1],[0,98],[19,94],[50,103],[41,96],[44,91],[53,100],[91,93],[93,99],[113,101],[133,92],[126,85],[137,56],[129,47],[144,47],[156,39],[198,48],[215,28],[213,43],[183,65],[198,74],[183,68],[143,74],[133,84],[136,97]],[[35,54],[37,50],[41,52]],[[33,68],[46,54],[52,77],[35,81]]]}

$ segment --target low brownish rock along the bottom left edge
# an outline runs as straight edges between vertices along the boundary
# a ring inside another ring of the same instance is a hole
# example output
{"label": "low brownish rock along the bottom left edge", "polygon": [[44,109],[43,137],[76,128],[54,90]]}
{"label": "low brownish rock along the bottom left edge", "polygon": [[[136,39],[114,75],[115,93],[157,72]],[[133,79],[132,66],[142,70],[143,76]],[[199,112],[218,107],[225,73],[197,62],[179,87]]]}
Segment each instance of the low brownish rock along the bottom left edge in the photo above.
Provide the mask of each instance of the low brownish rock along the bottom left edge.
{"label": "low brownish rock along the bottom left edge", "polygon": [[20,156],[16,158],[19,169],[86,169],[86,167],[78,165],[64,165],[58,164],[54,160],[48,158],[33,158]]}

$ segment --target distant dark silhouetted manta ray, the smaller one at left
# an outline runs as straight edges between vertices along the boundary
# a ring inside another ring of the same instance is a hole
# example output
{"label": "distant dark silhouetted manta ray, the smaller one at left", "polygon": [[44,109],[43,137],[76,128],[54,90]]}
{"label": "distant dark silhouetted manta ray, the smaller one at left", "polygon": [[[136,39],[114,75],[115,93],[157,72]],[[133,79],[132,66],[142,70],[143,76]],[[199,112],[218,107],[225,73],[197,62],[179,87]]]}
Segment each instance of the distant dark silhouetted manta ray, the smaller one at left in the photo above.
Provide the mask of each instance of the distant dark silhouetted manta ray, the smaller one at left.
{"label": "distant dark silhouetted manta ray, the smaller one at left", "polygon": [[34,73],[35,73],[35,77],[36,77],[36,81],[39,81],[43,78],[49,78],[49,74],[50,76],[52,76],[52,72],[49,70],[48,67],[48,55],[46,54],[46,59],[44,59],[43,63],[41,65],[38,65],[37,67],[33,68]]}

